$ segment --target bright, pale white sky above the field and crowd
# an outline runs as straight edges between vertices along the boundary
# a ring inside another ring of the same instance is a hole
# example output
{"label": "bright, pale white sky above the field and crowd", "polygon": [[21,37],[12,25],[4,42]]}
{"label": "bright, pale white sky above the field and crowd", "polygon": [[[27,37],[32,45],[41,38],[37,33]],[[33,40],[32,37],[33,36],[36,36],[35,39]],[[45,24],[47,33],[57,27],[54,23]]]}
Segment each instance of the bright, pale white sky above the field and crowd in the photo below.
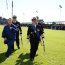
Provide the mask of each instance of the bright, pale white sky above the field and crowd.
{"label": "bright, pale white sky above the field and crowd", "polygon": [[[11,10],[12,0],[0,0],[0,16],[9,18],[12,16]],[[65,21],[65,0],[13,0],[14,15],[17,16],[20,22],[31,22],[31,18],[39,16],[45,22],[50,21]],[[60,7],[61,18],[60,18]],[[36,12],[38,11],[38,12]]]}

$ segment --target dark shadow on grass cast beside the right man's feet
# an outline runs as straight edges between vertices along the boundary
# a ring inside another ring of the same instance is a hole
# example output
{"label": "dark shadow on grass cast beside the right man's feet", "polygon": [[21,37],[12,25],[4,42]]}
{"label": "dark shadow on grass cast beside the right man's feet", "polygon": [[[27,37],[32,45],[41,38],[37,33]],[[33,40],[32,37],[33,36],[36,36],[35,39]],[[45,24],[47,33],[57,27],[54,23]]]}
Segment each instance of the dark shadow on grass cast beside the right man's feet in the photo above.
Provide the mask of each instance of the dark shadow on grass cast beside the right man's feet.
{"label": "dark shadow on grass cast beside the right man's feet", "polygon": [[20,54],[15,65],[33,65],[33,61],[29,60],[29,54]]}

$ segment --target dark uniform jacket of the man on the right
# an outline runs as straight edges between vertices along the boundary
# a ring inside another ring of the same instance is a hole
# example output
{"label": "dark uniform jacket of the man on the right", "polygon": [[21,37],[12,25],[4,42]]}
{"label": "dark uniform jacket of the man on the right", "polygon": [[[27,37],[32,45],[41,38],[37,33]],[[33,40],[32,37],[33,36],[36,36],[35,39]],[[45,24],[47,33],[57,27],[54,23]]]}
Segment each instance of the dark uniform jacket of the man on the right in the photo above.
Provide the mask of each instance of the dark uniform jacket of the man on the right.
{"label": "dark uniform jacket of the man on the right", "polygon": [[[27,31],[27,37],[30,40],[40,40],[40,36],[43,34],[43,30],[41,28],[41,25],[37,24],[36,29],[33,29],[33,24],[29,25],[28,31]],[[38,35],[37,35],[38,33]]]}

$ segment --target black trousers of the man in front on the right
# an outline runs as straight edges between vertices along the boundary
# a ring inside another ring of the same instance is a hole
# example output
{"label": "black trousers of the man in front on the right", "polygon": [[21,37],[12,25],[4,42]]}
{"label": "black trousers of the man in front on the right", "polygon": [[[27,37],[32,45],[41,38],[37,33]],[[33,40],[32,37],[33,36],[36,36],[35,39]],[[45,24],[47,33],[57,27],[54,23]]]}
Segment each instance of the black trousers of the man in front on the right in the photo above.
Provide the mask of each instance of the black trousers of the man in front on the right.
{"label": "black trousers of the man in front on the right", "polygon": [[38,50],[39,40],[30,40],[30,59],[34,59]]}

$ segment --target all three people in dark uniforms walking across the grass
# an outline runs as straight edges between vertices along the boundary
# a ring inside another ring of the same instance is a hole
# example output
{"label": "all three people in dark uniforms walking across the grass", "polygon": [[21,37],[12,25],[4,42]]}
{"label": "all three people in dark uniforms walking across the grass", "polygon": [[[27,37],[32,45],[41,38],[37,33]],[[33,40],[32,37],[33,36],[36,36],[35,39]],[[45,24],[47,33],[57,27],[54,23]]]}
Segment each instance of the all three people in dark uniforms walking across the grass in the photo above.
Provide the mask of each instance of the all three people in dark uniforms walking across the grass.
{"label": "all three people in dark uniforms walking across the grass", "polygon": [[[27,40],[30,42],[30,60],[33,61],[41,38],[44,40],[44,29],[43,25],[37,22],[38,19],[36,17],[33,17],[31,21],[32,24],[28,26]],[[4,26],[2,32],[4,43],[8,46],[7,52],[5,54],[7,57],[9,57],[10,54],[14,51],[15,40],[18,49],[20,49],[19,34],[22,34],[21,25],[20,22],[17,21],[17,17],[13,16],[12,19],[8,19],[8,24]]]}

